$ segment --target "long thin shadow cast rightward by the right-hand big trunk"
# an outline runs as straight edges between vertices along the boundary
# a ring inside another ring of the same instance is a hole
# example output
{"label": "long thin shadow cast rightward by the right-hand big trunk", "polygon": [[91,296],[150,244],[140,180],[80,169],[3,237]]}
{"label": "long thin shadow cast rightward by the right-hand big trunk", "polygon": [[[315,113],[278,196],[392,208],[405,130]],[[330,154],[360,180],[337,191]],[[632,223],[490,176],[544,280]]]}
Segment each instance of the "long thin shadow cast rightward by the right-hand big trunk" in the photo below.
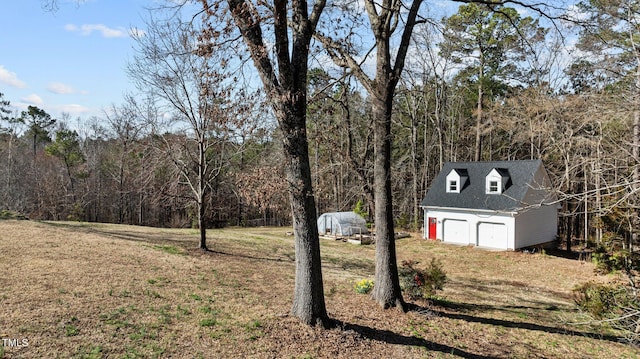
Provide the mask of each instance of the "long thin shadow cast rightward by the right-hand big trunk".
{"label": "long thin shadow cast rightward by the right-hand big trunk", "polygon": [[[462,303],[460,305],[460,308],[465,308],[468,306],[469,306],[468,304]],[[486,306],[483,306],[483,307],[486,307]],[[449,302],[449,304],[447,305],[447,308],[455,309],[456,305],[454,303]],[[491,309],[499,309],[499,308],[493,307]],[[583,332],[583,331],[570,330],[566,328],[552,327],[548,325],[535,324],[535,323],[514,322],[514,321],[504,320],[504,319],[484,318],[484,317],[479,317],[479,316],[464,314],[464,313],[451,313],[446,311],[434,310],[433,308],[422,307],[416,304],[409,304],[409,310],[419,312],[419,313],[428,312],[439,317],[463,320],[469,323],[479,323],[479,324],[493,325],[493,326],[499,326],[504,328],[513,328],[513,329],[526,329],[526,330],[540,331],[540,332],[551,333],[551,334],[578,336],[578,337],[585,337],[585,338],[596,339],[596,340],[605,340],[605,341],[610,341],[614,343],[620,342],[620,338],[614,335]]]}

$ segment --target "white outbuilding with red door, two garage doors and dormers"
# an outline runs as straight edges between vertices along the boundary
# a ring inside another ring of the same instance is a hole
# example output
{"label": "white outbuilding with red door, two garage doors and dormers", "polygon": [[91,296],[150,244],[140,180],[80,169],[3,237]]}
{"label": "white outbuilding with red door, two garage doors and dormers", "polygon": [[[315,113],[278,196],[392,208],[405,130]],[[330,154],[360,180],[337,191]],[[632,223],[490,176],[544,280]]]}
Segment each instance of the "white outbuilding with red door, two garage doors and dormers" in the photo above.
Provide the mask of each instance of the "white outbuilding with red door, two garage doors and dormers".
{"label": "white outbuilding with red door, two garage doors and dormers", "polygon": [[427,239],[515,250],[557,235],[556,196],[540,160],[446,163],[421,207]]}

